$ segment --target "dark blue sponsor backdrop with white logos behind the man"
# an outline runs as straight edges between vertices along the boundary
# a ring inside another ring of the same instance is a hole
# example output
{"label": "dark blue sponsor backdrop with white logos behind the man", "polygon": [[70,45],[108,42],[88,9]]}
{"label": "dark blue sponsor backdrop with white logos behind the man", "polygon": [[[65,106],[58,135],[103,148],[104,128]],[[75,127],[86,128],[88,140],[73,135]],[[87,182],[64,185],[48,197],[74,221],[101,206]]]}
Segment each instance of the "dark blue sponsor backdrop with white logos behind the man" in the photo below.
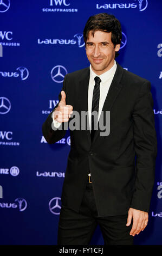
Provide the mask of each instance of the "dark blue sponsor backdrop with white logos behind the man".
{"label": "dark blue sponsor backdrop with white logos behind the man", "polygon": [[[59,101],[64,76],[89,66],[82,32],[98,13],[121,22],[116,61],[152,84],[158,157],[149,222],[135,244],[162,245],[161,8],[160,0],[0,2],[1,245],[57,243],[70,135],[48,144],[42,124]],[[104,244],[99,227],[91,244]]]}

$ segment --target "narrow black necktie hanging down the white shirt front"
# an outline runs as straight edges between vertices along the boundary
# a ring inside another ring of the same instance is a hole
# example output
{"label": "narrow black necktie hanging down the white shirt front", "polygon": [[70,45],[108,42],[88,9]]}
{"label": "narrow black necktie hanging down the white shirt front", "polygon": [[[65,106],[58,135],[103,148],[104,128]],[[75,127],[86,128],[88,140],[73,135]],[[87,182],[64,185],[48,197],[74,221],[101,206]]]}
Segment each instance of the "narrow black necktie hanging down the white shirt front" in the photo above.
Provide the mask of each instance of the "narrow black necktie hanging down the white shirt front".
{"label": "narrow black necktie hanging down the white shirt front", "polygon": [[91,113],[91,132],[90,132],[90,136],[91,136],[91,140],[93,140],[94,137],[94,127],[98,127],[98,112],[99,112],[99,99],[100,99],[100,82],[101,79],[100,77],[96,76],[94,78],[95,80],[95,86],[93,89],[93,100],[92,100],[92,112],[96,111],[97,114],[92,114]]}

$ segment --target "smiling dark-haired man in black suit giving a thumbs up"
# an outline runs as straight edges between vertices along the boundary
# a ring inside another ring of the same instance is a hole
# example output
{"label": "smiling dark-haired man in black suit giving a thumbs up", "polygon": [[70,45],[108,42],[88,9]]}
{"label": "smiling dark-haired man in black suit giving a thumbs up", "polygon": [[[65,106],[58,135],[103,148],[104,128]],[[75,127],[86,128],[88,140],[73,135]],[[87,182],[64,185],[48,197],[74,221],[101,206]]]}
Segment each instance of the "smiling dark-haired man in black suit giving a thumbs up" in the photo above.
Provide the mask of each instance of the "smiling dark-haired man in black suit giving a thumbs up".
{"label": "smiling dark-haired man in black suit giving a thumbs up", "polygon": [[[134,235],[147,225],[154,184],[151,85],[115,62],[121,25],[113,15],[91,16],[83,36],[90,67],[64,77],[59,103],[43,124],[47,142],[55,143],[66,134],[74,111],[80,116],[88,111],[87,128],[70,130],[58,244],[88,245],[99,224],[105,245],[133,245]],[[101,114],[105,130],[109,125],[106,136]]]}

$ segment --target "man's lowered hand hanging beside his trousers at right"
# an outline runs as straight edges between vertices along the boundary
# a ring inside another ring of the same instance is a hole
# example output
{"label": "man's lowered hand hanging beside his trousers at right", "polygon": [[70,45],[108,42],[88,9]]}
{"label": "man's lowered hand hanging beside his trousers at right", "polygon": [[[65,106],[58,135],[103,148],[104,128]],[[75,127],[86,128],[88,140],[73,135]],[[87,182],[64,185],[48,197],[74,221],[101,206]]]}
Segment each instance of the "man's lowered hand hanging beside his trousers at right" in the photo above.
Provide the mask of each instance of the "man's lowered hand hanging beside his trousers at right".
{"label": "man's lowered hand hanging beside his trousers at right", "polygon": [[148,212],[136,210],[133,208],[129,208],[128,218],[127,218],[127,226],[131,224],[133,218],[133,225],[130,231],[130,235],[135,236],[143,231],[146,228],[148,223]]}

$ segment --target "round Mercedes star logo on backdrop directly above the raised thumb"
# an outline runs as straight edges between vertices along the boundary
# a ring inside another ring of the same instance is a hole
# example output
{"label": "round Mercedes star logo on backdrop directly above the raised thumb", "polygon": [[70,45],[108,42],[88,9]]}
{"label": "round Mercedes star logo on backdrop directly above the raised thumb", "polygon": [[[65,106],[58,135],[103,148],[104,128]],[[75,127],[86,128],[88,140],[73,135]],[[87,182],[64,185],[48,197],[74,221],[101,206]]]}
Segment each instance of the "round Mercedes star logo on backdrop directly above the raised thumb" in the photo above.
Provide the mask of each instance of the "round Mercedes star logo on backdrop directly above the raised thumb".
{"label": "round Mercedes star logo on backdrop directly above the raised thumb", "polygon": [[64,76],[68,74],[68,71],[64,66],[57,65],[50,72],[51,78],[56,83],[62,83],[64,80]]}

